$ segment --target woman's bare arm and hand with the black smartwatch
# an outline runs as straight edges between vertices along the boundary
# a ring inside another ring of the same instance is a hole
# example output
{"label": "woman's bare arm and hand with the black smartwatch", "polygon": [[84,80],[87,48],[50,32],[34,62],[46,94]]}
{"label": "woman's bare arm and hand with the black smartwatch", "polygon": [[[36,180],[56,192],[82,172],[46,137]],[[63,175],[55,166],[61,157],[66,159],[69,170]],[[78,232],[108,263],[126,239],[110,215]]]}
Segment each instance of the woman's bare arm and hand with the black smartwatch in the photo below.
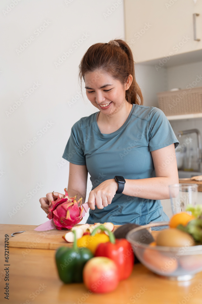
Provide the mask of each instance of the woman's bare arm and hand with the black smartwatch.
{"label": "woman's bare arm and hand with the black smartwatch", "polygon": [[[141,197],[143,199],[169,198],[168,185],[179,182],[174,143],[167,147],[152,151],[151,155],[154,162],[156,177],[126,179],[124,191],[122,192],[123,194]],[[99,209],[111,204],[117,189],[118,184],[114,179],[109,179],[101,183],[90,192],[88,198],[90,208],[94,209],[94,201]]]}

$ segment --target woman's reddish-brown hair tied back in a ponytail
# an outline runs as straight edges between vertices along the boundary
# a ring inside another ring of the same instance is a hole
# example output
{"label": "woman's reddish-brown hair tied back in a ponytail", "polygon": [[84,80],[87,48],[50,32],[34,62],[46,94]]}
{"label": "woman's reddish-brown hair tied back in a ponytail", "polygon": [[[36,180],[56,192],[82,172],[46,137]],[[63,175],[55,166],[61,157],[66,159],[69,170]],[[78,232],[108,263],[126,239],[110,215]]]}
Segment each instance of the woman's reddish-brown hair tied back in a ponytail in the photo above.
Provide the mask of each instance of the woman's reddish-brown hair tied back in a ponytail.
{"label": "woman's reddish-brown hair tied back in a ponytail", "polygon": [[128,76],[133,76],[130,88],[126,91],[129,103],[143,104],[141,89],[135,80],[133,54],[124,40],[111,40],[109,43],[95,43],[84,54],[79,65],[79,78],[82,82],[87,72],[102,70],[118,79],[122,85]]}

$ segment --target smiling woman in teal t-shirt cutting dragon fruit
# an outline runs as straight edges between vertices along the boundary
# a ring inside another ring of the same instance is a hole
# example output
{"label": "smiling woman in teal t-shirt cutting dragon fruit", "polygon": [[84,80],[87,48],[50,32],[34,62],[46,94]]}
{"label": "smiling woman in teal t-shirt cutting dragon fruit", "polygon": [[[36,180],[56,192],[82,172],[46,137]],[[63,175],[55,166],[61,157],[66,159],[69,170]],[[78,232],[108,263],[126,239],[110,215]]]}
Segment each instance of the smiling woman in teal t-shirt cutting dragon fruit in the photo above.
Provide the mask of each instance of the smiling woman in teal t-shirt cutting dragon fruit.
{"label": "smiling woman in teal t-shirt cutting dragon fruit", "polygon": [[[87,223],[168,220],[160,199],[168,199],[168,185],[178,183],[179,142],[164,113],[142,105],[130,48],[123,40],[96,43],[84,54],[79,71],[99,112],[72,127],[63,154],[70,162],[69,196],[78,194],[85,201],[89,172],[93,187]],[[46,213],[51,200],[51,193],[40,199]]]}

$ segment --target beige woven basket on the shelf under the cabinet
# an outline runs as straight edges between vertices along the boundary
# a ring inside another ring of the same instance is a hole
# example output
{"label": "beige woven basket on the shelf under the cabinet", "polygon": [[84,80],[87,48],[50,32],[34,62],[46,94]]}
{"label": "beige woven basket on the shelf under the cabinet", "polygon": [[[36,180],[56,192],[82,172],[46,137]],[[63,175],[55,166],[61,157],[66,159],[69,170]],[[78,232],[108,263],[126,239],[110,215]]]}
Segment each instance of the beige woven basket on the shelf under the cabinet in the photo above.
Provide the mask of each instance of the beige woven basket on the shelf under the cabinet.
{"label": "beige woven basket on the shelf under the cabinet", "polygon": [[202,113],[202,87],[159,92],[157,96],[166,116]]}

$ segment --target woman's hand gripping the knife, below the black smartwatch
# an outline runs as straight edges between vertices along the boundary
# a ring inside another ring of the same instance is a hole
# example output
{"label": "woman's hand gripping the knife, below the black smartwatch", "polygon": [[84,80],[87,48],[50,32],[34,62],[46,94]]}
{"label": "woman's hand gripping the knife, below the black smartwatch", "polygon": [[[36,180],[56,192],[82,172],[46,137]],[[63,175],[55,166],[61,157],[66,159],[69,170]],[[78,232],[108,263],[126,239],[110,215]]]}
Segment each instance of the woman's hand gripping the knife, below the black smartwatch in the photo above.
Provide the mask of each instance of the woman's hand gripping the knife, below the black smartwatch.
{"label": "woman's hand gripping the knife, below the black smartwatch", "polygon": [[103,209],[104,207],[111,204],[111,201],[118,190],[118,184],[115,179],[108,179],[103,181],[98,187],[94,188],[88,197],[88,205],[94,210],[95,205],[98,209]]}

